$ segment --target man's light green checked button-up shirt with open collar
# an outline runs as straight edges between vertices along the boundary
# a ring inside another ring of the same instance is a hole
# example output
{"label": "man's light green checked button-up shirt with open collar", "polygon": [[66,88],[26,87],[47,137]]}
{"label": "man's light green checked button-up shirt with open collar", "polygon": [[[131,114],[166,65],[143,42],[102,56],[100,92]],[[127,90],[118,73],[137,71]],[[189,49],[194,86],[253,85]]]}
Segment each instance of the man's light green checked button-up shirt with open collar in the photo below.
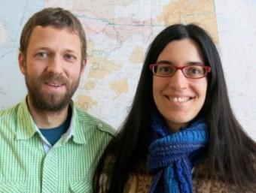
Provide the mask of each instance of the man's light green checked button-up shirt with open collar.
{"label": "man's light green checked button-up shirt with open collar", "polygon": [[26,100],[0,111],[0,191],[91,193],[93,171],[113,134],[109,125],[72,105],[69,130],[51,146]]}

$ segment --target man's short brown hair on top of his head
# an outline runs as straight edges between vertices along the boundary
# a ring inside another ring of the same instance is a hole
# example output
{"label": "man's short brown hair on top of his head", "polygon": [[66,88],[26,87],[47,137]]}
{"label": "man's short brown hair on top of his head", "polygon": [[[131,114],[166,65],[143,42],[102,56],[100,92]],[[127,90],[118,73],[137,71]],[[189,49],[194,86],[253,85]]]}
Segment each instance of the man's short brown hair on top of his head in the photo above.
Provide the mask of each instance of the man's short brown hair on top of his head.
{"label": "man's short brown hair on top of his head", "polygon": [[26,56],[26,51],[29,45],[29,38],[35,26],[53,26],[56,29],[68,29],[70,32],[78,34],[81,41],[81,56],[82,60],[86,57],[86,36],[84,29],[74,14],[62,8],[44,8],[35,13],[29,18],[20,37],[20,53]]}

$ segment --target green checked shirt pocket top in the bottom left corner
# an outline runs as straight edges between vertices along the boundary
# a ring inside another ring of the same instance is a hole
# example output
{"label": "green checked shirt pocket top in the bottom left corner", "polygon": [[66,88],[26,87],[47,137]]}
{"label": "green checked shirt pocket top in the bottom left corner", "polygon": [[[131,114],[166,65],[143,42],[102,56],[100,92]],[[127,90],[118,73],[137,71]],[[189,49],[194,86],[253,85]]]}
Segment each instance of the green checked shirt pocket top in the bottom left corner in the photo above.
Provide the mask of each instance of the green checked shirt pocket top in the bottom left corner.
{"label": "green checked shirt pocket top in the bottom left corner", "polygon": [[0,192],[2,193],[24,193],[24,182],[0,182]]}

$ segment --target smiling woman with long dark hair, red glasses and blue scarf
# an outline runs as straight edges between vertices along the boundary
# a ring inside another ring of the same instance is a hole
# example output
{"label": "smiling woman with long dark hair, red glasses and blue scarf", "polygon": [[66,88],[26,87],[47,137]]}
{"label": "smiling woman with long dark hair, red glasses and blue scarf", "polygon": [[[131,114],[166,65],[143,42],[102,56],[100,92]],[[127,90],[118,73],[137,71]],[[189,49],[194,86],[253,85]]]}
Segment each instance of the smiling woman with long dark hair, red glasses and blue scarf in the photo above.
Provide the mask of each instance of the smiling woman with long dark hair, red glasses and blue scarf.
{"label": "smiling woman with long dark hair, red glasses and blue scarf", "polygon": [[231,110],[212,39],[199,26],[173,25],[149,47],[94,192],[256,192],[255,155]]}

